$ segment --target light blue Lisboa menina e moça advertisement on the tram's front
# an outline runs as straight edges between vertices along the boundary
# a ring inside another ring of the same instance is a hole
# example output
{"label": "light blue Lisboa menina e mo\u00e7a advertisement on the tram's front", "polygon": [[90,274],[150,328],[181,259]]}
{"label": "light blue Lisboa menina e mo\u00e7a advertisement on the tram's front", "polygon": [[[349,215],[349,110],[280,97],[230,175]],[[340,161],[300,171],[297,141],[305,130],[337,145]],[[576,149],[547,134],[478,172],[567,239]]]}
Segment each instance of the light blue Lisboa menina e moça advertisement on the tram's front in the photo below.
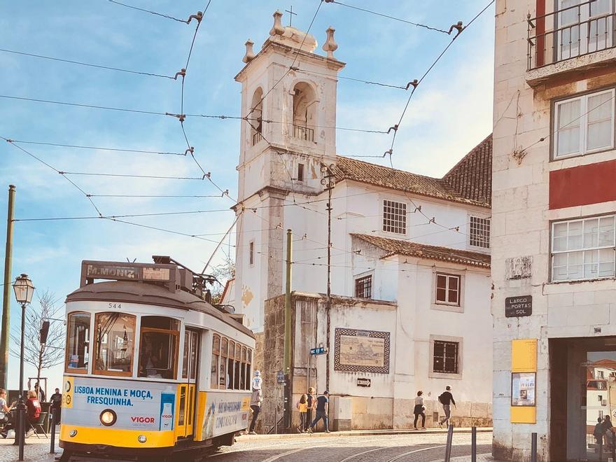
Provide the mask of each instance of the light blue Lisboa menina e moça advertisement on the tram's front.
{"label": "light blue Lisboa menina e mo\u00e7a advertisement on the tram's front", "polygon": [[103,426],[105,410],[116,415],[113,428],[173,430],[176,386],[146,381],[64,377],[62,420]]}

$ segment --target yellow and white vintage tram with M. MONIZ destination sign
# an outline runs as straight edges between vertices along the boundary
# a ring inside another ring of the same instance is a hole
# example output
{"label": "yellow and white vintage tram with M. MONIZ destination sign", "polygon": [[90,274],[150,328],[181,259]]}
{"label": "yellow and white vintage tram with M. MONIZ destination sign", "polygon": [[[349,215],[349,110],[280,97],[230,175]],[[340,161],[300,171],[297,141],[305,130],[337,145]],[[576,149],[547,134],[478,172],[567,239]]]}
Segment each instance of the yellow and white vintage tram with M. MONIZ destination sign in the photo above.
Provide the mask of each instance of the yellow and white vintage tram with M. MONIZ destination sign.
{"label": "yellow and white vintage tram with M. MONIZ destination sign", "polygon": [[204,300],[202,275],[154,261],[84,260],[66,297],[66,460],[158,461],[232,444],[248,425],[253,332]]}

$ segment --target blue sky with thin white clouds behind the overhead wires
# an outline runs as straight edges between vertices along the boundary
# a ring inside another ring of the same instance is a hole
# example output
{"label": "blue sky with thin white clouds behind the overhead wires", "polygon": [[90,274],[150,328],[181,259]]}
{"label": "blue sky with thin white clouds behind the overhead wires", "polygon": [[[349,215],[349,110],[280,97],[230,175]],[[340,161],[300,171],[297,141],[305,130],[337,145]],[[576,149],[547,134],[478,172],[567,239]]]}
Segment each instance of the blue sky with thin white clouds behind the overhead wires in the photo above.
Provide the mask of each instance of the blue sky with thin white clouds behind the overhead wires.
{"label": "blue sky with thin white clouds behind the overhead wires", "polygon": [[[133,6],[175,16],[204,8],[204,1],[126,0]],[[344,3],[413,22],[449,29],[468,22],[486,0],[388,1]],[[212,0],[197,34],[186,76],[185,112],[239,115],[244,42],[255,51],[267,38],[274,10],[290,2]],[[293,2],[293,25],[306,30],[318,0]],[[5,2],[0,15],[0,48],[92,64],[173,76],[186,63],[195,23],[182,24],[141,13],[106,0]],[[491,132],[494,7],[464,31],[447,55],[416,90],[396,141],[393,165],[441,176]],[[288,24],[288,13],[283,16]],[[451,39],[428,29],[379,18],[332,3],[323,3],[311,34],[321,45],[325,29],[335,27],[337,59],[346,62],[341,76],[405,85],[421,77]],[[116,106],[154,112],[180,111],[179,81],[94,69],[47,59],[0,52],[0,94],[62,102]],[[340,80],[337,125],[387,130],[398,121],[408,92]],[[185,123],[195,156],[211,178],[235,197],[239,156],[239,122],[188,118]],[[165,116],[84,109],[0,98],[0,136],[22,141],[74,144],[183,153],[186,143],[179,121]],[[391,138],[384,134],[338,132],[339,154],[381,154]],[[64,172],[99,172],[153,176],[201,176],[193,160],[176,155],[116,153],[20,144]],[[379,160],[376,160],[377,162]],[[386,162],[386,161],[383,161]],[[218,195],[208,181],[69,176],[94,195]],[[4,141],[0,144],[0,211],[6,213],[6,190],[17,186],[15,218],[95,216],[87,198],[61,175]],[[13,279],[21,272],[38,288],[64,297],[78,287],[80,261],[149,261],[172,255],[188,267],[202,269],[217,241],[231,225],[228,197],[111,198],[94,197],[102,214],[148,214],[208,211],[202,214],[127,218],[141,225],[181,235],[101,219],[20,221],[15,223]],[[324,207],[324,206],[323,206]],[[0,239],[5,239],[4,225]],[[232,237],[232,240],[235,237]],[[233,252],[232,246],[224,246]],[[223,258],[218,253],[215,262]],[[11,324],[18,307],[11,304]],[[10,360],[10,371],[18,361]],[[32,374],[27,369],[27,374]],[[62,371],[49,371],[50,387]],[[18,374],[9,377],[16,388]]]}

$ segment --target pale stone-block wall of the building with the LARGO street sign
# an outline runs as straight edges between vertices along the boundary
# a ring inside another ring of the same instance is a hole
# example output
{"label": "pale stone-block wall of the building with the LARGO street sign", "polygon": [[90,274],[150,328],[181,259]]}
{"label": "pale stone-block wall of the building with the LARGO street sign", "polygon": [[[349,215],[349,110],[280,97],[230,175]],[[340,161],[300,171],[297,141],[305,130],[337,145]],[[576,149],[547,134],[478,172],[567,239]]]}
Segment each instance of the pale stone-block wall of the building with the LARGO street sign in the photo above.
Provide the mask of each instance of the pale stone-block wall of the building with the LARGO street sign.
{"label": "pale stone-block wall of the building with the LARGO street sign", "polygon": [[[598,457],[585,431],[587,405],[580,365],[586,350],[613,350],[616,287],[613,278],[554,282],[551,223],[613,214],[616,202],[597,200],[573,207],[550,207],[551,175],[563,169],[616,159],[613,149],[552,160],[554,102],[616,83],[613,49],[563,59],[544,66],[528,61],[528,22],[554,28],[552,0],[497,0],[493,111],[492,277],[493,453],[507,460],[530,460],[531,433],[538,434],[540,461]],[[610,3],[611,4],[611,3]],[[549,16],[545,25],[534,18]],[[613,13],[613,10],[612,10]],[[559,13],[562,14],[562,13]],[[611,22],[610,22],[611,24]],[[533,32],[534,36],[534,32]],[[548,39],[546,39],[548,41]],[[535,45],[538,42],[533,38]],[[537,69],[528,69],[537,67]],[[590,179],[592,182],[593,180]],[[605,181],[596,178],[594,181]],[[583,188],[583,186],[582,186]],[[577,185],[569,197],[581,195]],[[552,192],[554,195],[554,192]],[[528,277],[510,277],[521,258]],[[505,298],[532,295],[532,316],[506,318]],[[511,423],[512,340],[538,340],[536,423]],[[575,339],[575,340],[574,340]],[[594,339],[594,340],[590,340]],[[587,346],[587,342],[596,342]],[[576,343],[577,342],[577,343]],[[591,399],[587,397],[587,399]],[[596,396],[595,396],[595,399]],[[596,417],[595,417],[596,423]]]}

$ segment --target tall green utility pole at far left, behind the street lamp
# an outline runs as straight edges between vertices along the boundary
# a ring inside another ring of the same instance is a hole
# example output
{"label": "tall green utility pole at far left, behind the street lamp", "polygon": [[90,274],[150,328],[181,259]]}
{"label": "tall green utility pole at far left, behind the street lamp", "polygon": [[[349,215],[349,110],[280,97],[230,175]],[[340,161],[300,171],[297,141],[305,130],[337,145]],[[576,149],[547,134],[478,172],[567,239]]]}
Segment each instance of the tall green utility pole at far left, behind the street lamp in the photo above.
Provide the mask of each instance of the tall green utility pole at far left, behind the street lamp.
{"label": "tall green utility pole at far left, behind the street lamp", "polygon": [[[6,218],[6,252],[4,253],[4,286],[2,297],[2,325],[0,328],[0,388],[8,388],[8,332],[10,328],[10,272],[13,263],[13,214],[15,186],[8,186],[8,214]],[[21,393],[21,392],[20,392]]]}

